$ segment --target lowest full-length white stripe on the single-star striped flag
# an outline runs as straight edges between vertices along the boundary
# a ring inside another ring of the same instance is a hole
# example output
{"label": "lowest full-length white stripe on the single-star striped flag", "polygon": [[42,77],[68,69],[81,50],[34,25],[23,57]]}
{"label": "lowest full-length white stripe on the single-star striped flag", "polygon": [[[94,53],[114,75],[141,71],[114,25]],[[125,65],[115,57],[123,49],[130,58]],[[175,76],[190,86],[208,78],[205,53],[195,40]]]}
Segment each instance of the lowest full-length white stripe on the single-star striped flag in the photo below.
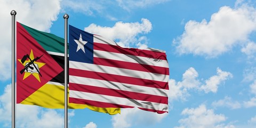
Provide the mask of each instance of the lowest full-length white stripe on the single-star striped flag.
{"label": "lowest full-length white stripe on the single-star striped flag", "polygon": [[74,91],[74,90],[69,90],[69,97],[85,99],[85,100],[100,101],[100,102],[107,102],[107,103],[114,103],[117,105],[125,105],[125,106],[140,107],[140,108],[146,108],[146,109],[168,111],[168,105],[166,105],[164,103],[155,103],[155,102],[142,101],[142,100],[126,99],[126,98],[120,98],[120,97],[113,97],[113,96],[109,96],[109,95],[79,92],[79,91]]}

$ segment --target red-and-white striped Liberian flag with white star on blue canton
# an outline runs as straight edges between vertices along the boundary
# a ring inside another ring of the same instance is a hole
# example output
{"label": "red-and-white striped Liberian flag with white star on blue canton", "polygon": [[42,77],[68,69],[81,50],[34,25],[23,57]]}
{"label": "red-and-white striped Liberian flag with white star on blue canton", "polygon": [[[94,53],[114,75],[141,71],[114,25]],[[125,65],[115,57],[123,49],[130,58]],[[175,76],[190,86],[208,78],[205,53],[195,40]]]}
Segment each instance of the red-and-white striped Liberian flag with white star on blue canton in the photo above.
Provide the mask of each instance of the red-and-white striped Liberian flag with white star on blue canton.
{"label": "red-and-white striped Liberian flag with white star on blue canton", "polygon": [[69,25],[69,102],[168,112],[164,51],[123,48]]}

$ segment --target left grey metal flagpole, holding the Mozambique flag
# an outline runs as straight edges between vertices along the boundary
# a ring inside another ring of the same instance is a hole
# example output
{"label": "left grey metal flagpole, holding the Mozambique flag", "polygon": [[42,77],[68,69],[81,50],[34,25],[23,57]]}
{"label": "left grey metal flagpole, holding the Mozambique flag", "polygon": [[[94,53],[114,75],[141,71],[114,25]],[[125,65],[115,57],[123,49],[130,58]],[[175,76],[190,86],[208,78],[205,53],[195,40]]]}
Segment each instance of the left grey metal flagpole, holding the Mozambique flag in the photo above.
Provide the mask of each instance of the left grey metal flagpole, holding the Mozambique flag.
{"label": "left grey metal flagpole, holding the Mozambique flag", "polygon": [[12,10],[12,128],[15,128],[15,110],[16,110],[16,94],[15,94],[15,15],[16,11]]}

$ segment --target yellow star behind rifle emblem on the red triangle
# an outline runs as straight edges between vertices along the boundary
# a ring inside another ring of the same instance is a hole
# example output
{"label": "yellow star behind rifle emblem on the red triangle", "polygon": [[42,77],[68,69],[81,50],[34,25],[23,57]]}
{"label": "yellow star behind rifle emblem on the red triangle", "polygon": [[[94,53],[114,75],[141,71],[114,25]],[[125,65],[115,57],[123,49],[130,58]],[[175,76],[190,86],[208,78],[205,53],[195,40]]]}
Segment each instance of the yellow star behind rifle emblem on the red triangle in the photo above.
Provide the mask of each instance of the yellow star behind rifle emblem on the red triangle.
{"label": "yellow star behind rifle emblem on the red triangle", "polygon": [[[35,59],[33,50],[31,50],[30,55],[29,55],[29,58],[30,58],[31,60],[34,60],[34,59]],[[18,60],[20,61],[20,63],[21,63],[24,67],[26,66],[26,63],[29,63],[29,62],[30,62],[29,59],[26,60],[24,63],[22,63],[20,59],[18,59]],[[42,63],[42,62],[36,62],[36,61],[34,61],[34,63],[35,63],[36,65],[38,65],[38,69],[41,68],[41,67],[43,67],[43,66],[45,65],[45,63]],[[31,74],[32,74],[39,82],[41,82],[38,73],[29,73],[29,72],[26,72],[26,71],[25,71],[25,74],[24,74],[24,76],[23,76],[23,80],[26,79],[26,78],[27,78],[28,76],[30,76]]]}

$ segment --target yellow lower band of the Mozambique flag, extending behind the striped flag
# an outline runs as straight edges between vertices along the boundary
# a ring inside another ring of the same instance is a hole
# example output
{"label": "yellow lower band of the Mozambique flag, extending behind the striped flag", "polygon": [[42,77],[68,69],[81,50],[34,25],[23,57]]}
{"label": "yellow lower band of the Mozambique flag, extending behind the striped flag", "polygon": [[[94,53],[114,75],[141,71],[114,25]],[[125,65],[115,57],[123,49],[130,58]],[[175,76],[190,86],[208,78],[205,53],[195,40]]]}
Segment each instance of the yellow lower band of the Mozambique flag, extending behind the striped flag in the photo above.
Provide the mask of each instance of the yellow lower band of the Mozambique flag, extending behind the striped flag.
{"label": "yellow lower band of the Mozambique flag, extending behind the striped flag", "polygon": [[[31,94],[28,98],[23,100],[21,104],[37,105],[44,108],[64,108],[64,86],[45,84],[40,89]],[[84,109],[89,108],[101,113],[108,113],[110,115],[120,114],[120,108],[99,108],[90,105],[81,105],[76,103],[68,103],[70,109]]]}

